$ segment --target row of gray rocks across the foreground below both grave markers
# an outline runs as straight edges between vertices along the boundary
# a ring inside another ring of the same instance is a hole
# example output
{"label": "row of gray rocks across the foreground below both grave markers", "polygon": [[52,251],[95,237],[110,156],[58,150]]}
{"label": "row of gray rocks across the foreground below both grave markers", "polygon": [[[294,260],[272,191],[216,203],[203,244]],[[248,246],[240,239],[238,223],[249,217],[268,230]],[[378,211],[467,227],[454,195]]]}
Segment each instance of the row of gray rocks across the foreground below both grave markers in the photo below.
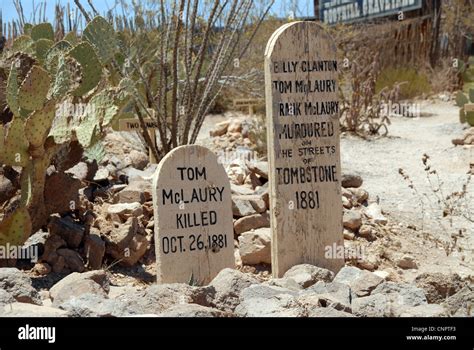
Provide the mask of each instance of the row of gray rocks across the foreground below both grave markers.
{"label": "row of gray rocks across the foreground below both grave markers", "polygon": [[[120,287],[99,270],[72,273],[37,291],[17,269],[0,269],[1,317],[412,317],[473,316],[473,286],[457,276],[397,283],[348,266],[336,275],[297,265],[264,282],[222,270],[206,286]],[[10,287],[8,287],[10,286]],[[14,287],[12,287],[14,286]],[[446,293],[446,291],[449,291]]]}

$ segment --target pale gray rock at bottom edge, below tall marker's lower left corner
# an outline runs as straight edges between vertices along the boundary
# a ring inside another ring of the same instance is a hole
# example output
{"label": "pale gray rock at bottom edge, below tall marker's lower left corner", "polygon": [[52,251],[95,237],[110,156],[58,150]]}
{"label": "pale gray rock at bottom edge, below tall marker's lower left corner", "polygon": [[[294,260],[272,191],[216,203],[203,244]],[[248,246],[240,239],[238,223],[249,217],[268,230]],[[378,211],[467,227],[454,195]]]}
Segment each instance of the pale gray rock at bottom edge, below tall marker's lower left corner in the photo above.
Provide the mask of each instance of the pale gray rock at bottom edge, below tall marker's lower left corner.
{"label": "pale gray rock at bottom edge, below tall marker's lower left corner", "polygon": [[245,288],[235,314],[241,317],[298,317],[304,309],[295,300],[297,292],[265,285]]}

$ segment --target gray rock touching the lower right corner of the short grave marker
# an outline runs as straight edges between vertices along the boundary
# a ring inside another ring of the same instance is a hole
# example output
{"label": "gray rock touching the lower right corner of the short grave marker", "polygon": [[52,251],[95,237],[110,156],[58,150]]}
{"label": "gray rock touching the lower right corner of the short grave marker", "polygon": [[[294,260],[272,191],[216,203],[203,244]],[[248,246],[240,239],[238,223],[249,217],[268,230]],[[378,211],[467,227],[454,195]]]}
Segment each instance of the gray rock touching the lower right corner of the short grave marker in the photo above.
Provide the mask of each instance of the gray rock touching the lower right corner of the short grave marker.
{"label": "gray rock touching the lower right corner of the short grave marker", "polygon": [[242,290],[258,280],[250,275],[234,269],[224,269],[209,284],[215,290],[210,306],[223,311],[234,311],[239,304]]}

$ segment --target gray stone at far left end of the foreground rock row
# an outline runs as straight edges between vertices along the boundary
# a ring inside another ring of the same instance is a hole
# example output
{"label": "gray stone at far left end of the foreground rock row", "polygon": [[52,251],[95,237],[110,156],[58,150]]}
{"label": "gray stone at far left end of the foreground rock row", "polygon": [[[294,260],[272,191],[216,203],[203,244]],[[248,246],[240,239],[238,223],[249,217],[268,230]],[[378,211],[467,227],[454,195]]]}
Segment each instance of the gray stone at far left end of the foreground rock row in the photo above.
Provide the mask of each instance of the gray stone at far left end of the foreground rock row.
{"label": "gray stone at far left end of the foreground rock row", "polygon": [[31,278],[17,268],[0,268],[0,289],[8,292],[18,302],[42,304],[40,295],[31,285]]}

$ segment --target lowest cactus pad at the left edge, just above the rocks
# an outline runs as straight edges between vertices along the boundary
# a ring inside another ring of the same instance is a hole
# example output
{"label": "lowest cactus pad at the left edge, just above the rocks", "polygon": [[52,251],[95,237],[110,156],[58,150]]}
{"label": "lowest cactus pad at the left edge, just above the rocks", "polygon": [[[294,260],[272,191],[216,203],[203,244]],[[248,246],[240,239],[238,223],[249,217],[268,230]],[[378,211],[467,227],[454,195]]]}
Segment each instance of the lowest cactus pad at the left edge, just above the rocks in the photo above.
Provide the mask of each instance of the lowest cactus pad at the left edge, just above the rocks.
{"label": "lowest cactus pad at the left edge, just above the rocks", "polygon": [[0,245],[23,245],[31,234],[31,219],[25,207],[16,209],[0,223]]}

